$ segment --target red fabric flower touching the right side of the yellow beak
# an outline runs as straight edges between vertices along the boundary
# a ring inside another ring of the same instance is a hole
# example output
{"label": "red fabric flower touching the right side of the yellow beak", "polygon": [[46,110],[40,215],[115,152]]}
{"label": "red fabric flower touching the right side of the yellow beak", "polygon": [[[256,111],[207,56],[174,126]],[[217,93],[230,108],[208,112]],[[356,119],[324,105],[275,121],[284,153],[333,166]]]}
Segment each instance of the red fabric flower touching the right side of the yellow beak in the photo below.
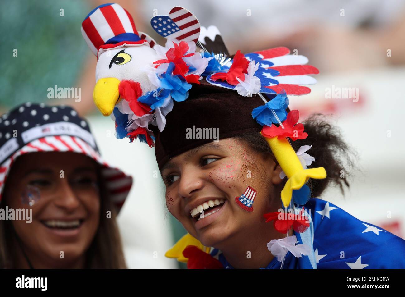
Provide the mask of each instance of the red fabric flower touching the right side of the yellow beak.
{"label": "red fabric flower touching the right side of the yellow beak", "polygon": [[149,114],[150,107],[144,103],[138,102],[142,95],[142,88],[139,82],[133,80],[122,80],[118,85],[119,95],[128,101],[130,109],[137,116]]}

